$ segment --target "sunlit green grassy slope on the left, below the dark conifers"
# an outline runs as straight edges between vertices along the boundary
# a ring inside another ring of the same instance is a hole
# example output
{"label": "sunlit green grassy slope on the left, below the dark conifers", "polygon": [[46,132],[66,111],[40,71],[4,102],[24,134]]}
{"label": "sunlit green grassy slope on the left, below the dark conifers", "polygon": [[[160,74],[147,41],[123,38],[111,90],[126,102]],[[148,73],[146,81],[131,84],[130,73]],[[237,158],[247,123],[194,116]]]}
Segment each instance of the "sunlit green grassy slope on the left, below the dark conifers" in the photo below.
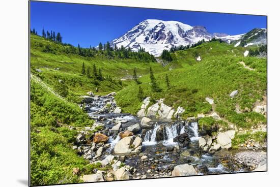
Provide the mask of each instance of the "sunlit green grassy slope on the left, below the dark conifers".
{"label": "sunlit green grassy slope on the left, below the dark conifers", "polygon": [[[130,79],[134,68],[138,75],[147,74],[149,67],[157,72],[165,71],[159,64],[152,61],[118,58],[114,55],[113,57],[106,56],[103,51],[96,51],[93,57],[85,57],[64,52],[66,47],[32,34],[31,69],[33,73],[40,76],[43,81],[48,82],[50,86],[53,86],[57,79],[63,80],[75,95],[82,95],[90,90],[95,92],[96,88],[98,94],[118,91],[123,87],[118,83],[118,80]],[[48,48],[47,52],[46,48]],[[86,70],[90,69],[91,74],[93,65],[95,65],[97,69],[102,70],[103,77],[110,76],[113,80],[104,80],[96,84],[93,78],[81,75],[83,63]],[[42,72],[38,73],[35,69],[40,69]]]}

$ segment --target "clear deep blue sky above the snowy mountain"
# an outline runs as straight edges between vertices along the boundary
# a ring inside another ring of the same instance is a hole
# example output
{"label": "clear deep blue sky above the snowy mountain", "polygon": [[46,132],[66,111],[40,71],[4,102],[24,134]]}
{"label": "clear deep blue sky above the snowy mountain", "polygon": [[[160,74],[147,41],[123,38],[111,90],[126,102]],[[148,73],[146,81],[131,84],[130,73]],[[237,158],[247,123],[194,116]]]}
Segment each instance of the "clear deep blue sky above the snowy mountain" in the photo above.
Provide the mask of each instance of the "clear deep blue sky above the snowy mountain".
{"label": "clear deep blue sky above the snowy mountain", "polygon": [[[184,7],[182,7],[184,8]],[[60,32],[63,42],[81,47],[116,39],[145,19],[203,25],[210,33],[237,35],[266,28],[265,16],[111,7],[82,4],[31,2],[31,28]]]}

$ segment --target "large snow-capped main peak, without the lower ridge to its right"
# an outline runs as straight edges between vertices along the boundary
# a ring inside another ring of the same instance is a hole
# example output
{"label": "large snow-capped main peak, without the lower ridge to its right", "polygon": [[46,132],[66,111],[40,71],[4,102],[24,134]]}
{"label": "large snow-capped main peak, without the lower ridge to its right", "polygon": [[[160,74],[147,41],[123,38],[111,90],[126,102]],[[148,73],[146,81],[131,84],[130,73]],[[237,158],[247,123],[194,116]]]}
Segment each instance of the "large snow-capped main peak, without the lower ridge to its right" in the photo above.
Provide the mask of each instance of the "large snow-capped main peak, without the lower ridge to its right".
{"label": "large snow-capped main peak, without the lower ridge to its right", "polygon": [[190,26],[178,21],[147,19],[134,26],[126,34],[111,41],[117,47],[131,47],[137,51],[140,47],[159,56],[164,49],[172,46],[189,45],[200,40],[208,41],[213,37],[225,37],[227,34],[211,34],[204,26]]}

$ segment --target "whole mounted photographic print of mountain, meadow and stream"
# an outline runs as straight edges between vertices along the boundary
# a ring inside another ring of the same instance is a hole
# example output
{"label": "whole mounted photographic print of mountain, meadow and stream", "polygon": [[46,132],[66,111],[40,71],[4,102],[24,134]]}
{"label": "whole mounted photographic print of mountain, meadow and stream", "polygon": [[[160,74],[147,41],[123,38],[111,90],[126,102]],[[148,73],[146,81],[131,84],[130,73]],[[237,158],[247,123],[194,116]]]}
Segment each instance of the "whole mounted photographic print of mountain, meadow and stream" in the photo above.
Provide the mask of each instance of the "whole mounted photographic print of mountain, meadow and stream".
{"label": "whole mounted photographic print of mountain, meadow and stream", "polygon": [[198,11],[30,2],[30,185],[267,171],[267,16]]}

